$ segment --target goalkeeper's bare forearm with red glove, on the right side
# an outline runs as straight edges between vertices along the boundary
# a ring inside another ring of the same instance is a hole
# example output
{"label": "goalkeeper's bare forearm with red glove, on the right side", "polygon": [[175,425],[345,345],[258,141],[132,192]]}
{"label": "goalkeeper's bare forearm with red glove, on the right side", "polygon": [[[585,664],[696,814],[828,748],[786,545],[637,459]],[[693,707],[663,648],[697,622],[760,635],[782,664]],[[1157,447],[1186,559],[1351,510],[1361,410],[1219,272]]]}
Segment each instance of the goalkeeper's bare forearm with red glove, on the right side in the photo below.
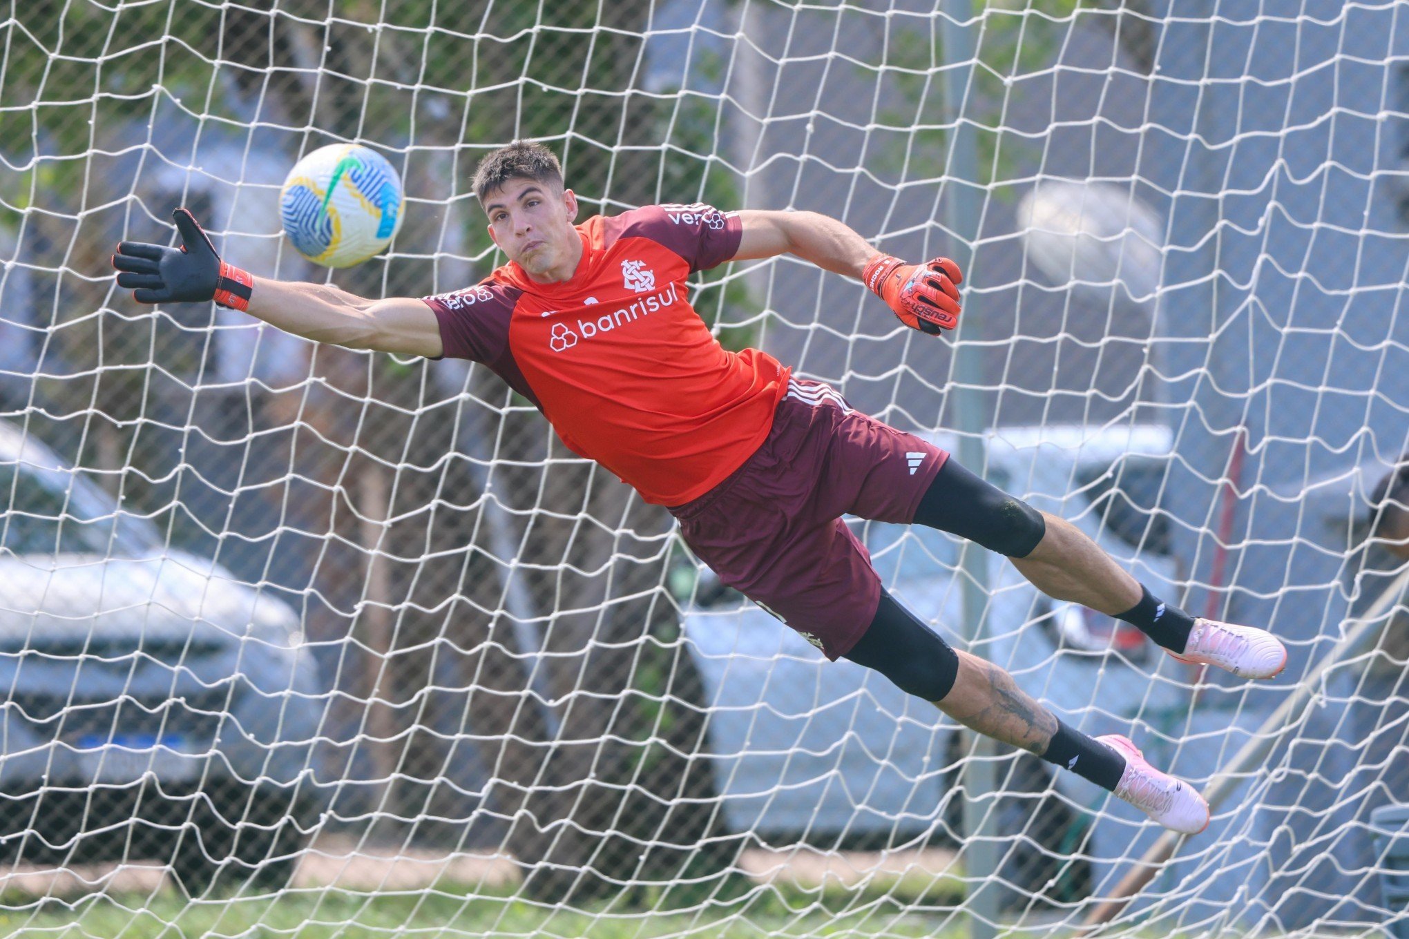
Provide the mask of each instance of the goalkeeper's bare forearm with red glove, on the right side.
{"label": "goalkeeper's bare forearm with red glove, on the right side", "polygon": [[738,220],[744,231],[734,260],[795,255],[823,270],[859,277],[912,329],[938,335],[958,325],[964,275],[948,258],[907,265],[820,213],[744,210]]}

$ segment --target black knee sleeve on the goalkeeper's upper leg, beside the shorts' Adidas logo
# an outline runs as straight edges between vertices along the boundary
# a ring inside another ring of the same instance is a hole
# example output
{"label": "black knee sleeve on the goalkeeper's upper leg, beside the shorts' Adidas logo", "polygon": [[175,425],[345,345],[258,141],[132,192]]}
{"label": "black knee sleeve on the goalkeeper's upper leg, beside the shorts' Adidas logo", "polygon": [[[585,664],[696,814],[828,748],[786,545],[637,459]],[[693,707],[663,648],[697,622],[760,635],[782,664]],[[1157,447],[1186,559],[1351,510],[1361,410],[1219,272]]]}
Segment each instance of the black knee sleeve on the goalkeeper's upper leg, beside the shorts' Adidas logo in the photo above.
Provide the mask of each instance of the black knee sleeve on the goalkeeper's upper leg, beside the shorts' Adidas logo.
{"label": "black knee sleeve on the goalkeeper's upper leg, beside the shorts' Adidas logo", "polygon": [[1006,557],[1026,557],[1047,534],[1040,511],[968,472],[952,456],[924,490],[914,521]]}

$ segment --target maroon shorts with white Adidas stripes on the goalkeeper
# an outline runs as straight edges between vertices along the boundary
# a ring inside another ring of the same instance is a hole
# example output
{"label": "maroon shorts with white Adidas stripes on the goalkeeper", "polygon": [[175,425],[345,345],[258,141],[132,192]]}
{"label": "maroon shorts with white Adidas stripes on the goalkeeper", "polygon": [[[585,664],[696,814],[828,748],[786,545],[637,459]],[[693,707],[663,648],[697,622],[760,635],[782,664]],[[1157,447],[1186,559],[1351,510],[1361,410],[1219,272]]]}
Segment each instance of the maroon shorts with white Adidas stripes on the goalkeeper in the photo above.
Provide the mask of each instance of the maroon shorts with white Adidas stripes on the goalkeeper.
{"label": "maroon shorts with white Adidas stripes on the goalkeeper", "polygon": [[774,429],[723,483],[671,512],[719,579],[836,660],[875,618],[881,579],[841,515],[914,519],[948,453],[790,379]]}

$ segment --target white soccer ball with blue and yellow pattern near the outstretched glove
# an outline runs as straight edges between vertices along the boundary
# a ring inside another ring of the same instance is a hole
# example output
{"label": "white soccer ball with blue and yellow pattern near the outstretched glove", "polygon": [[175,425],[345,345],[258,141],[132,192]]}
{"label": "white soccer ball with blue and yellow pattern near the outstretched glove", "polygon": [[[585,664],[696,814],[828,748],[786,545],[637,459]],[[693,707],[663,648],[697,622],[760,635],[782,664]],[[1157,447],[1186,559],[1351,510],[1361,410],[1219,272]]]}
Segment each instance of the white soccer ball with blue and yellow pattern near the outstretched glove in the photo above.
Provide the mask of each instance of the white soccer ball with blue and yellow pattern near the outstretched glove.
{"label": "white soccer ball with blue and yellow pattern near the outstretched glove", "polygon": [[289,170],[279,193],[283,232],[324,267],[380,252],[402,225],[402,180],[386,158],[356,144],[321,146]]}

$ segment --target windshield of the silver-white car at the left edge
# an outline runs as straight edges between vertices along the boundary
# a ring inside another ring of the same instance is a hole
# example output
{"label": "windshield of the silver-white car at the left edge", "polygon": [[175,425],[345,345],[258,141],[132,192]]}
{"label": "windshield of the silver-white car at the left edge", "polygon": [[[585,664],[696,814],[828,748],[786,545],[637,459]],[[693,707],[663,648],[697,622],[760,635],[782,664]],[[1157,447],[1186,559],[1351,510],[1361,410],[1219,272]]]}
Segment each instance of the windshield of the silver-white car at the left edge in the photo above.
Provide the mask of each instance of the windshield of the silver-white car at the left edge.
{"label": "windshield of the silver-white car at the left edge", "polygon": [[0,463],[0,549],[134,556],[161,546],[149,522],[118,511],[101,490],[63,474],[70,493],[58,481],[24,463]]}

